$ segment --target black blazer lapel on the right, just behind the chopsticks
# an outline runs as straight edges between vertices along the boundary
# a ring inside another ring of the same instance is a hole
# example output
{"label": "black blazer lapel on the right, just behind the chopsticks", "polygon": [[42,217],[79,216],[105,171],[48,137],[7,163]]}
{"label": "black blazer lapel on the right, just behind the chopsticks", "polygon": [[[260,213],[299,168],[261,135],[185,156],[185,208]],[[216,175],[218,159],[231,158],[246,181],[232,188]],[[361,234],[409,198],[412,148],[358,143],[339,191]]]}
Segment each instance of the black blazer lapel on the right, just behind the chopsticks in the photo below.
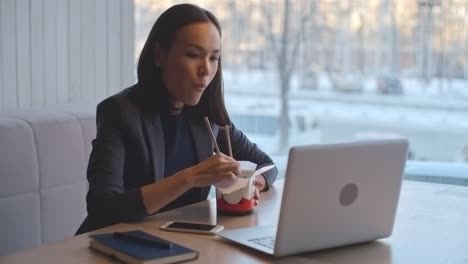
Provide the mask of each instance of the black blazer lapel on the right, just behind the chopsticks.
{"label": "black blazer lapel on the right, just behind the chopsticks", "polygon": [[[202,162],[213,155],[214,145],[213,142],[211,142],[210,132],[205,126],[204,121],[199,118],[193,118],[193,116],[190,116],[189,123],[192,130],[192,137],[195,143],[198,162]],[[211,123],[211,128],[213,129],[215,137],[217,137],[219,127]]]}

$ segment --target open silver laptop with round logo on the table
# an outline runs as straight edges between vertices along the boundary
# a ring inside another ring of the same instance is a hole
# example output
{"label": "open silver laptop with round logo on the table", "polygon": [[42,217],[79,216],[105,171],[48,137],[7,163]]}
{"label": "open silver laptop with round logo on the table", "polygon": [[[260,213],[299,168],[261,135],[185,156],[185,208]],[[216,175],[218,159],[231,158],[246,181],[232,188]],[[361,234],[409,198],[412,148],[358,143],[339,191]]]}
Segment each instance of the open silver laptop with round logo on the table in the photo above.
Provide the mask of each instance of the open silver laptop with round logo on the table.
{"label": "open silver laptop with round logo on the table", "polygon": [[218,235],[274,256],[388,237],[407,150],[406,139],[292,147],[278,225]]}

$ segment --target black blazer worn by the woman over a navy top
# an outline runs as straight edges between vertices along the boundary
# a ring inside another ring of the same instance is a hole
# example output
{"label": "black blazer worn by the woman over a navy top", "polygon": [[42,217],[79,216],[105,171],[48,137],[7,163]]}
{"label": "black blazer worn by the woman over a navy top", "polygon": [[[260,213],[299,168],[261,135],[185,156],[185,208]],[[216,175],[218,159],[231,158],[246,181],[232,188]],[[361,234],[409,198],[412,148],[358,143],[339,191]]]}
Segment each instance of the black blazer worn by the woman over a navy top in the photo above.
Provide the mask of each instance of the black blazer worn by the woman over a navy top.
{"label": "black blazer worn by the woman over a navy top", "polygon": [[[140,187],[164,178],[164,135],[160,112],[149,100],[148,93],[138,84],[113,95],[97,106],[97,135],[89,158],[86,196],[88,216],[77,234],[89,232],[119,222],[139,221],[147,216]],[[214,146],[203,119],[188,113],[189,127],[195,142],[198,161],[213,153]],[[222,152],[227,145],[219,127],[211,124]],[[237,160],[249,160],[258,167],[272,164],[268,155],[232,125],[231,145]],[[264,174],[267,189],[278,171]],[[201,188],[205,200],[210,187]],[[162,208],[158,212],[171,209]]]}

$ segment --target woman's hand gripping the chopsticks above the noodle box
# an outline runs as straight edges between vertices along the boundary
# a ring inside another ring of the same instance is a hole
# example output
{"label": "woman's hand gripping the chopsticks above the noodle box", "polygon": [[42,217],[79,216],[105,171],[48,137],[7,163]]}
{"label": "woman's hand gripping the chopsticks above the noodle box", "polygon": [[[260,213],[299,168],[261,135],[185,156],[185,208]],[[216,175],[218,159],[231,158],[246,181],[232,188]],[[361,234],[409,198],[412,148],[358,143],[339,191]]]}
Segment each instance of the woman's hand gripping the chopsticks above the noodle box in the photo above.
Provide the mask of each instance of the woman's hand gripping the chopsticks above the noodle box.
{"label": "woman's hand gripping the chopsticks above the noodle box", "polygon": [[240,175],[240,164],[235,159],[218,153],[180,173],[192,187],[203,187],[224,180],[234,180]]}

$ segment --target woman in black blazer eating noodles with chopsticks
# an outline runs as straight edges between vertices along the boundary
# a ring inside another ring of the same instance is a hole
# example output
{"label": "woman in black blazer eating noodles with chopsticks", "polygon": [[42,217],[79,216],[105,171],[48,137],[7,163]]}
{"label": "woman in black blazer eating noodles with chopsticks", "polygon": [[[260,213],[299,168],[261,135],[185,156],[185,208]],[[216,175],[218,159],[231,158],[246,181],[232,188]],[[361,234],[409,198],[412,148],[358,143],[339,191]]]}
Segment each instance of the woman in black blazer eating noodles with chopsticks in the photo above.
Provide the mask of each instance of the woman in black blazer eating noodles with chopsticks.
{"label": "woman in black blazer eating noodles with chopsticks", "polygon": [[[272,164],[229,120],[220,56],[221,28],[210,12],[182,4],[158,18],[140,55],[138,83],[97,107],[88,216],[77,234],[206,200],[212,184],[240,174],[236,160]],[[222,153],[213,154],[205,116]],[[233,157],[223,154],[224,125]],[[256,178],[257,189],[268,190],[276,174]]]}

